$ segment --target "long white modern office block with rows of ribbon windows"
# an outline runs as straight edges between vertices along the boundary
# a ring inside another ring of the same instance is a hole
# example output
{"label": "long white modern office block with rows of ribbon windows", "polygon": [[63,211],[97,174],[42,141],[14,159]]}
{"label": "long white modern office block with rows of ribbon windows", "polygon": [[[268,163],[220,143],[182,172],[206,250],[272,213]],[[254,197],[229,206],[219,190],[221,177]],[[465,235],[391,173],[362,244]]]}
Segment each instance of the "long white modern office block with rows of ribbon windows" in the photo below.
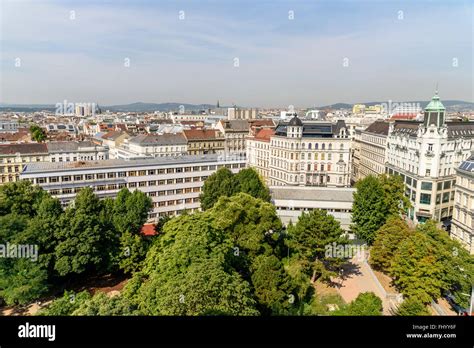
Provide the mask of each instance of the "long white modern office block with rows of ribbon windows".
{"label": "long white modern office block with rows of ribbon windows", "polygon": [[157,157],[145,160],[28,163],[20,178],[57,197],[63,206],[83,187],[100,198],[115,197],[122,188],[140,190],[153,201],[150,219],[200,209],[204,181],[221,167],[236,173],[245,160],[218,155]]}

